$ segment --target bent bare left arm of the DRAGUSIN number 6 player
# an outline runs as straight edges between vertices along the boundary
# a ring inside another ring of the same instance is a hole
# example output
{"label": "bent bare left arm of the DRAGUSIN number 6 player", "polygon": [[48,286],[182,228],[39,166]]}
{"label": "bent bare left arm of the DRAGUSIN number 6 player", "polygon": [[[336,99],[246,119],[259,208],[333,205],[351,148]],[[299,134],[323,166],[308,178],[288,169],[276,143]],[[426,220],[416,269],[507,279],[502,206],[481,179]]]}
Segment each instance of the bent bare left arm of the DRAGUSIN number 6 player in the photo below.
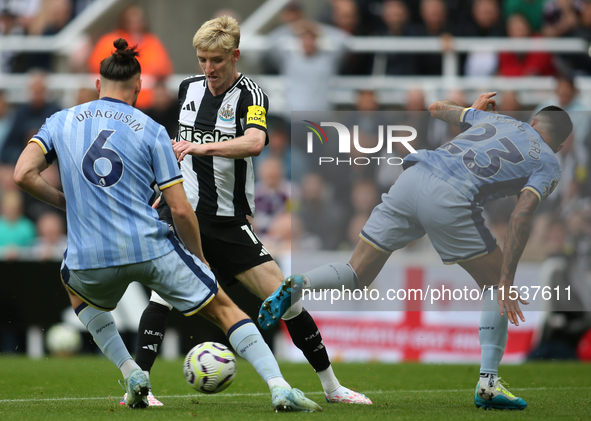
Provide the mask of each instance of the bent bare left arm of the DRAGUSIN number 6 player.
{"label": "bent bare left arm of the DRAGUSIN number 6 player", "polygon": [[31,142],[16,163],[14,182],[31,196],[65,212],[66,197],[64,194],[41,177],[41,172],[47,167],[49,165],[45,160],[41,146],[36,142]]}

